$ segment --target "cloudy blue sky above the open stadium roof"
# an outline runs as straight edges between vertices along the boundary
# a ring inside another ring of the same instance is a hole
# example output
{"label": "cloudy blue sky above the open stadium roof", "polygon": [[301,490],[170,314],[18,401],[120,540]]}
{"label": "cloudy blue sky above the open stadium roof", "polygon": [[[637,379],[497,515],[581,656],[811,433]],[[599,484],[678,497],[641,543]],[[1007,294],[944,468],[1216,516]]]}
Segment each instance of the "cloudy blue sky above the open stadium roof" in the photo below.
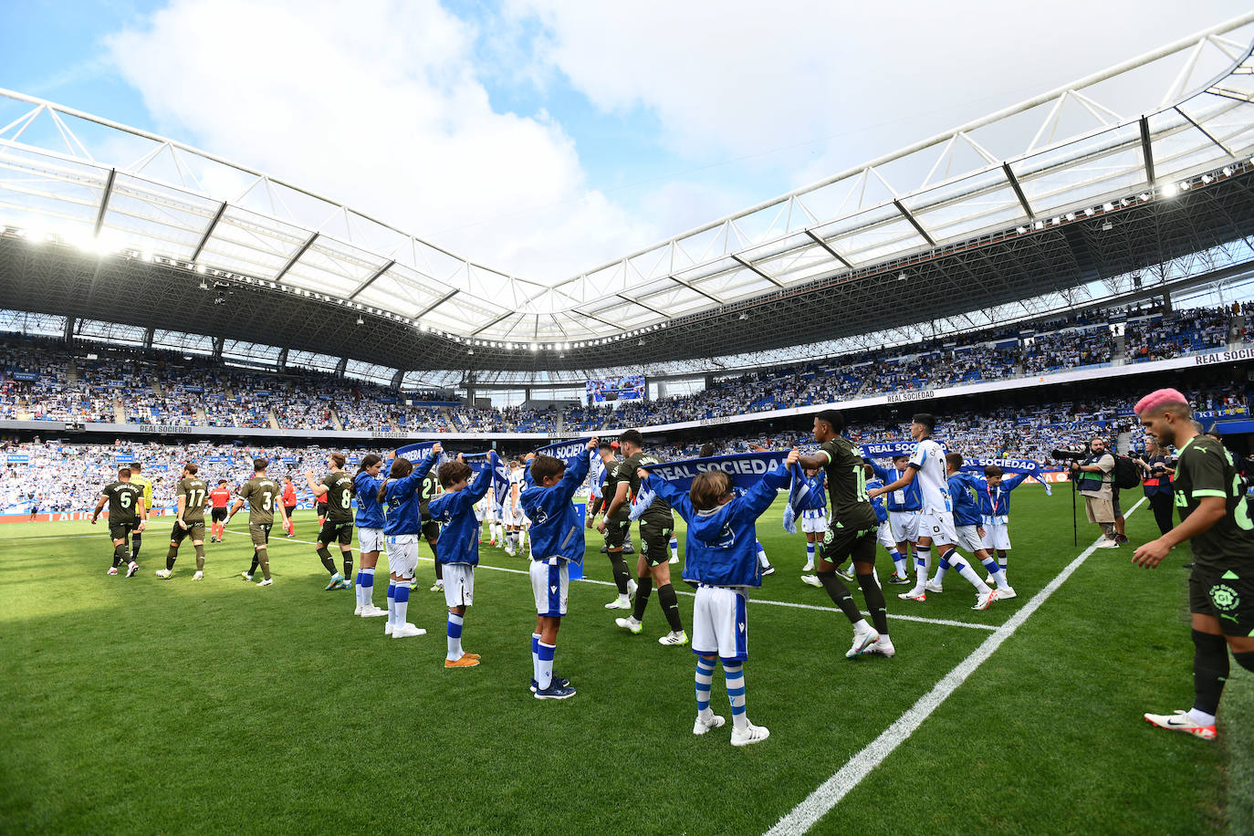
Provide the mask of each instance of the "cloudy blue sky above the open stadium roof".
{"label": "cloudy blue sky above the open stadium roof", "polygon": [[0,86],[551,282],[1248,8],[5,0]]}

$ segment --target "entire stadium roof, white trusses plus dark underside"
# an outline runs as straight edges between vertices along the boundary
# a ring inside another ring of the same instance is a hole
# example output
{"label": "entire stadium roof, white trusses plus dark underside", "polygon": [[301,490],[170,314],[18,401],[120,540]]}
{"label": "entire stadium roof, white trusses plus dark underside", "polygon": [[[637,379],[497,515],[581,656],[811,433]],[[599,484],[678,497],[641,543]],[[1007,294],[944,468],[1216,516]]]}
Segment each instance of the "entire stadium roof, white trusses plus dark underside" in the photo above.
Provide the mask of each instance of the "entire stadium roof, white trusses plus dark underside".
{"label": "entire stadium roof, white trusses plus dark underside", "polygon": [[[1251,23],[553,282],[0,91],[0,307],[401,368],[540,370],[759,351],[1126,281],[1254,234]],[[1150,85],[1150,112],[1102,103]]]}

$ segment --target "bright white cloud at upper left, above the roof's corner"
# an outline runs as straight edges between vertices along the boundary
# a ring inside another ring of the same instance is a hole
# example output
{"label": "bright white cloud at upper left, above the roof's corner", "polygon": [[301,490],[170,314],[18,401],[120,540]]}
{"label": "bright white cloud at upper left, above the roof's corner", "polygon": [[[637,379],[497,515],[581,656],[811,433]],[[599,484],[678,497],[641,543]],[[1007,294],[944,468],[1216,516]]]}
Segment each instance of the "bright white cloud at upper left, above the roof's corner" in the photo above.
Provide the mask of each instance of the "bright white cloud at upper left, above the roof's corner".
{"label": "bright white cloud at upper left, above the roof's corner", "polygon": [[564,278],[658,233],[547,115],[495,113],[433,0],[176,0],[107,39],[162,130],[473,261]]}

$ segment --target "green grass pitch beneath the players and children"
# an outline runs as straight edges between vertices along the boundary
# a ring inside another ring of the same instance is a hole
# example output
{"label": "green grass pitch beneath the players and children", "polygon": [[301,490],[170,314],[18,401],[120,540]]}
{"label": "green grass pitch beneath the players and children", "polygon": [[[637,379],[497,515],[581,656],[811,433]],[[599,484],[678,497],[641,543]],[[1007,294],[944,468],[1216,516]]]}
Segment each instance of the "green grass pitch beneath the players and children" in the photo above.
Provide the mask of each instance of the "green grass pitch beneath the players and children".
{"label": "green grass pitch beneath the players and children", "polygon": [[[578,696],[540,702],[527,687],[528,580],[487,568],[522,570],[522,558],[482,548],[464,645],[483,663],[445,671],[429,560],[410,603],[429,633],[394,642],[384,619],[350,615],[351,592],[322,590],[303,543],[276,538],[275,585],[246,584],[242,523],[206,546],[202,583],[189,544],[173,580],[153,575],[169,518],[145,534],[129,580],[104,574],[103,525],[0,526],[0,828],[762,832],[989,635],[894,619],[897,658],[849,662],[838,612],[751,603],[749,716],[771,737],[739,750],[730,718],[692,736],[692,653],[657,644],[653,602],[630,635],[603,608],[608,587],[572,583],[557,667]],[[314,525],[298,514],[297,536]],[[1127,533],[1154,531],[1142,505]],[[779,568],[759,597],[830,608],[799,582],[804,540],[784,534],[780,504],[759,534]],[[925,604],[889,587],[889,612],[999,625],[1095,534],[1081,525],[1072,545],[1066,489],[1023,488],[1017,600],[972,612],[951,574]],[[587,573],[608,580],[599,545],[589,536]],[[1254,677],[1233,666],[1218,743],[1141,719],[1191,702],[1188,554],[1145,572],[1127,548],[1097,550],[814,832],[1249,832]],[[680,600],[687,625],[692,598]],[[721,671],[712,706],[730,714]]]}

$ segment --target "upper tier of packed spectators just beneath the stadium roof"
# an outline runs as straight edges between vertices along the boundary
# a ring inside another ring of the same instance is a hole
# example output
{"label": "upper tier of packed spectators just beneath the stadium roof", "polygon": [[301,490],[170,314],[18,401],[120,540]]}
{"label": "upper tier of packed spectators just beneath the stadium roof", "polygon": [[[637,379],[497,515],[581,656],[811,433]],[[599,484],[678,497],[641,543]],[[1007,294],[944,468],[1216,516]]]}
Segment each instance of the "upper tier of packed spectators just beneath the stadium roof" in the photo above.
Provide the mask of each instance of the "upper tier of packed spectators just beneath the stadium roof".
{"label": "upper tier of packed spectators just beneath the stadium roof", "polygon": [[[1244,317],[1244,318],[1243,318]],[[450,404],[439,390],[399,392],[326,372],[265,372],[208,357],[54,340],[0,342],[0,419],[296,430],[571,434],[719,419],[1111,363],[1124,323],[1127,362],[1254,340],[1254,302],[1164,313],[1073,315],[803,365],[715,376],[697,392],[606,406],[532,410]],[[99,352],[99,353],[97,353]]]}

